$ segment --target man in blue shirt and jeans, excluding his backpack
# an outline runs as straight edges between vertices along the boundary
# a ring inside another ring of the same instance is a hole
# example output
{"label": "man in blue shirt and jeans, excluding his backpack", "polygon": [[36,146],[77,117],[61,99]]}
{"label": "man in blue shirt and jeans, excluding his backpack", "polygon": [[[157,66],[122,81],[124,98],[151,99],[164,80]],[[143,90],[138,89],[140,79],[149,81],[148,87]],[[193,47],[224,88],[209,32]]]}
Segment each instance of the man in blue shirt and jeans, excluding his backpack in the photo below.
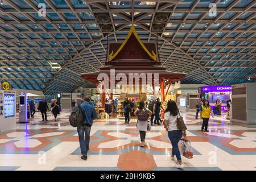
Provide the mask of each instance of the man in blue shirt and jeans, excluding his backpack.
{"label": "man in blue shirt and jeans, excluding his backpack", "polygon": [[82,126],[77,127],[77,133],[79,134],[79,143],[81,148],[81,159],[87,160],[87,152],[89,151],[90,142],[90,128],[93,124],[93,119],[97,118],[96,110],[90,105],[90,96],[84,98],[84,102],[80,105],[82,113],[84,115],[84,123]]}

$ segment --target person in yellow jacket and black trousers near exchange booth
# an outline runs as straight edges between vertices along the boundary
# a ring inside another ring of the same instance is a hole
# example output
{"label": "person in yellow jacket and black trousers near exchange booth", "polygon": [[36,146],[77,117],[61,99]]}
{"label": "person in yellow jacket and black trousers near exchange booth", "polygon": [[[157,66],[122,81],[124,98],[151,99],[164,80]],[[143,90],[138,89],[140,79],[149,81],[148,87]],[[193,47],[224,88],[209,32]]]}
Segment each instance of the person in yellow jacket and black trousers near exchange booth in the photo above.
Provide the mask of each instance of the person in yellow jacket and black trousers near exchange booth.
{"label": "person in yellow jacket and black trousers near exchange booth", "polygon": [[208,132],[208,122],[209,122],[209,118],[210,118],[210,113],[212,114],[212,118],[213,118],[213,111],[210,109],[210,104],[209,101],[205,100],[204,104],[202,104],[200,106],[200,117],[201,119],[203,118],[203,125],[201,128],[201,131],[205,131]]}

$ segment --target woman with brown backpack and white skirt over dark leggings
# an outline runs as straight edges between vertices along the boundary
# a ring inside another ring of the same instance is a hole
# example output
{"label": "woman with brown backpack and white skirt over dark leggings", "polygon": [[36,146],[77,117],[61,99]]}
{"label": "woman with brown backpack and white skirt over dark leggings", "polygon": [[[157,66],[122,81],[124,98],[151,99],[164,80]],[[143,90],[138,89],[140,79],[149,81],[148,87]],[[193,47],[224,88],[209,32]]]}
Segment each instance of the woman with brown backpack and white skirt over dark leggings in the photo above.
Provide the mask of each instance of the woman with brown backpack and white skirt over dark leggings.
{"label": "woman with brown backpack and white skirt over dark leggings", "polygon": [[141,136],[141,147],[144,147],[146,131],[150,128],[150,122],[147,121],[148,113],[151,115],[152,111],[145,107],[143,101],[139,102],[139,107],[134,111],[134,115],[138,117],[137,121],[137,131],[139,131],[139,135]]}

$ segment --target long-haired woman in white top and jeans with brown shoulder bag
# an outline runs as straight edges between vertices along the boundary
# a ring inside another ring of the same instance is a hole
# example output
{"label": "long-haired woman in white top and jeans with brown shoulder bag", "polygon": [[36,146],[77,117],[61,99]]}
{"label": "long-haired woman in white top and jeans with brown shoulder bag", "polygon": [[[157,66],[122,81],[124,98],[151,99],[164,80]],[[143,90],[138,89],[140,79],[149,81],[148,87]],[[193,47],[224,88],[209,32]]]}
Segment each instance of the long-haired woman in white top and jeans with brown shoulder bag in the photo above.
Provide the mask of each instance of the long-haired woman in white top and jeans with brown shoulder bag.
{"label": "long-haired woman in white top and jeans with brown shoulder bag", "polygon": [[167,109],[164,113],[164,128],[168,131],[168,137],[172,143],[171,160],[174,160],[174,156],[176,156],[178,163],[175,167],[183,168],[184,165],[181,160],[178,143],[182,136],[187,136],[185,131],[187,127],[184,124],[182,114],[177,108],[175,101],[168,101]]}

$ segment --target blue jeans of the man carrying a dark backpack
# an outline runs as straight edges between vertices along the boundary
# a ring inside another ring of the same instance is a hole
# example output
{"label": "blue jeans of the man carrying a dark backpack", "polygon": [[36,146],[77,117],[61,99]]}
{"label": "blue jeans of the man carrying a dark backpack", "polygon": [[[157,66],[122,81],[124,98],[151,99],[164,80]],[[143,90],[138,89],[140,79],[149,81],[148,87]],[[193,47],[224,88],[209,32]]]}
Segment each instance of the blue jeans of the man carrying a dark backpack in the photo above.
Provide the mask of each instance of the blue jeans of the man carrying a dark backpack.
{"label": "blue jeans of the man carrying a dark backpack", "polygon": [[77,133],[79,134],[79,143],[81,153],[83,156],[87,156],[90,142],[90,128],[91,126],[80,126],[77,127]]}

